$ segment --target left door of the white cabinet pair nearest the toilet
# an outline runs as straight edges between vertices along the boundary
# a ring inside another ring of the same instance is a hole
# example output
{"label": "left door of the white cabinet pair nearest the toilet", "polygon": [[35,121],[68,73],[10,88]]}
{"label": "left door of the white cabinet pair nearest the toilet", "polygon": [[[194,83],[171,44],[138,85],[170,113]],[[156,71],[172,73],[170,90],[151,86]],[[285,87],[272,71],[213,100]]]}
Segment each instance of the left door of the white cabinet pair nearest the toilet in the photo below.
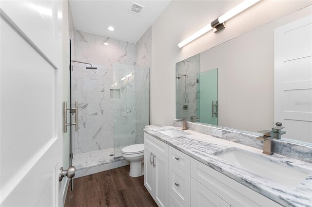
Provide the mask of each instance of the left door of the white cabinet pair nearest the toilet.
{"label": "left door of the white cabinet pair nearest the toilet", "polygon": [[[154,198],[155,194],[155,168],[153,166],[153,149],[144,145],[144,186]],[[154,198],[155,199],[155,198]]]}

